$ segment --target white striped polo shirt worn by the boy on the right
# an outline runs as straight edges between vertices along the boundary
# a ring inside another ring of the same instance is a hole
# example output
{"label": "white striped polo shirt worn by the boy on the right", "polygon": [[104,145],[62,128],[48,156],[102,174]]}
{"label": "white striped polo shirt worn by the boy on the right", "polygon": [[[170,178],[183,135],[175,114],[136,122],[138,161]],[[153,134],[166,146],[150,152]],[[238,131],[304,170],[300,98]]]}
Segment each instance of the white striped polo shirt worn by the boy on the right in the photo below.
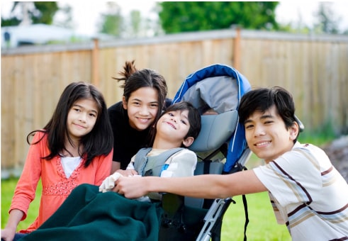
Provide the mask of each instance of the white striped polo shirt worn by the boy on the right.
{"label": "white striped polo shirt worn by the boy on the right", "polygon": [[348,240],[348,184],[323,150],[296,142],[254,172],[292,240]]}

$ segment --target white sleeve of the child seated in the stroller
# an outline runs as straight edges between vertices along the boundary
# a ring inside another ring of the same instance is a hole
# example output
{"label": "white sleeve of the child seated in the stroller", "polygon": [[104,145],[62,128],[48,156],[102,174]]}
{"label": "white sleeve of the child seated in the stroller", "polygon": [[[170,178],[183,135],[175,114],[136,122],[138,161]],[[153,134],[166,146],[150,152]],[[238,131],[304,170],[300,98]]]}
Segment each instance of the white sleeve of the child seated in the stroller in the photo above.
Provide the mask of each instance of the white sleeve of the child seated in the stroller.
{"label": "white sleeve of the child seated in the stroller", "polygon": [[193,176],[197,156],[195,152],[184,149],[169,157],[166,164],[169,164],[169,167],[162,172],[162,177]]}

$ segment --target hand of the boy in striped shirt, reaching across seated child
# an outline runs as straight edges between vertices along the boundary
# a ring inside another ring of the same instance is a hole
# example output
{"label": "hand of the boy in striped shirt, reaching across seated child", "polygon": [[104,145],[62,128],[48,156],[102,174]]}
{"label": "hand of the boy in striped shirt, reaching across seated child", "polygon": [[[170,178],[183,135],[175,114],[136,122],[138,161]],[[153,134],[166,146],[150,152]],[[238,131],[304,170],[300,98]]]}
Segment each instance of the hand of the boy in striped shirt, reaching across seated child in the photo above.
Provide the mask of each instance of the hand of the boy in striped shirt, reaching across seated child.
{"label": "hand of the boy in striped shirt, reaching across seated child", "polygon": [[148,193],[146,190],[147,180],[148,177],[142,176],[120,176],[115,182],[113,191],[118,194],[124,194],[126,198],[139,198]]}

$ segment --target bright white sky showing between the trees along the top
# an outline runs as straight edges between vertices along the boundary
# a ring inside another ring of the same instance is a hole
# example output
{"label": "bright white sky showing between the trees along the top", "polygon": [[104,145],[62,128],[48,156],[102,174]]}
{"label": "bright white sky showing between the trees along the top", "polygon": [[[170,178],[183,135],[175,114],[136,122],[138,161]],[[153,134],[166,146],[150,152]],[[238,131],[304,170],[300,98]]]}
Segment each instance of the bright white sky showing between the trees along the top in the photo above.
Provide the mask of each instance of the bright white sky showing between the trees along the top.
{"label": "bright white sky showing between the trees along the top", "polygon": [[[121,8],[123,16],[131,10],[139,10],[142,16],[150,16],[155,1],[116,1]],[[276,9],[276,20],[279,23],[301,22],[307,26],[313,25],[313,13],[318,9],[319,1],[280,1]],[[333,10],[339,16],[339,28],[348,29],[348,1],[332,1]],[[1,15],[6,16],[11,11],[13,1],[1,1]],[[73,21],[77,33],[82,35],[95,35],[97,23],[101,20],[101,13],[106,13],[106,1],[59,1],[59,6],[69,4],[73,9]],[[152,13],[153,16],[153,13]]]}

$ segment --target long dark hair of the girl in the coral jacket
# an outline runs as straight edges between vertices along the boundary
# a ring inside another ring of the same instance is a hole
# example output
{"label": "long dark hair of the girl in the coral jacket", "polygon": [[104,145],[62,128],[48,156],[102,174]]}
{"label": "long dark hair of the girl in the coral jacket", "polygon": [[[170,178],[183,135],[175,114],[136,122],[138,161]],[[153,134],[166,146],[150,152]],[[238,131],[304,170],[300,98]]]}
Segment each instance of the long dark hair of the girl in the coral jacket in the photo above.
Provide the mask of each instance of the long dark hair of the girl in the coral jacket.
{"label": "long dark hair of the girl in the coral jacket", "polygon": [[[56,155],[60,155],[62,150],[67,150],[64,147],[64,138],[66,136],[69,142],[72,143],[67,130],[67,116],[74,103],[80,99],[92,99],[96,101],[98,107],[98,116],[94,128],[90,133],[84,135],[79,143],[79,145],[83,145],[83,151],[79,154],[86,159],[84,167],[88,167],[94,157],[108,155],[111,152],[113,148],[113,132],[103,95],[92,84],[73,82],[65,87],[52,118],[43,130],[33,130],[27,136],[27,142],[30,144],[30,136],[33,136],[37,131],[47,133],[47,146],[50,150],[50,155],[42,158],[50,160]],[[38,142],[31,144],[34,145]]]}

